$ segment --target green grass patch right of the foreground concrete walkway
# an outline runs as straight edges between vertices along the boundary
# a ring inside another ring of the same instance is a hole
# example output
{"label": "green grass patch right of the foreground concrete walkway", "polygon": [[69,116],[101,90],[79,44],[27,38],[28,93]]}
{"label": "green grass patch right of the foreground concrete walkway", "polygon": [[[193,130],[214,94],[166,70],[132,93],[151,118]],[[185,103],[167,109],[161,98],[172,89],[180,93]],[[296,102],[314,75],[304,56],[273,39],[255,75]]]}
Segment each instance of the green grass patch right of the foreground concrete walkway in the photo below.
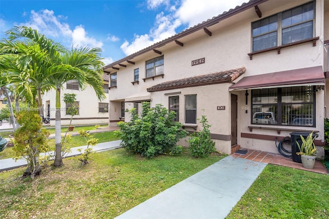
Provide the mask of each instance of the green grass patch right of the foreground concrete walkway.
{"label": "green grass patch right of the foreground concrete walkway", "polygon": [[329,175],[267,165],[227,218],[329,218]]}

